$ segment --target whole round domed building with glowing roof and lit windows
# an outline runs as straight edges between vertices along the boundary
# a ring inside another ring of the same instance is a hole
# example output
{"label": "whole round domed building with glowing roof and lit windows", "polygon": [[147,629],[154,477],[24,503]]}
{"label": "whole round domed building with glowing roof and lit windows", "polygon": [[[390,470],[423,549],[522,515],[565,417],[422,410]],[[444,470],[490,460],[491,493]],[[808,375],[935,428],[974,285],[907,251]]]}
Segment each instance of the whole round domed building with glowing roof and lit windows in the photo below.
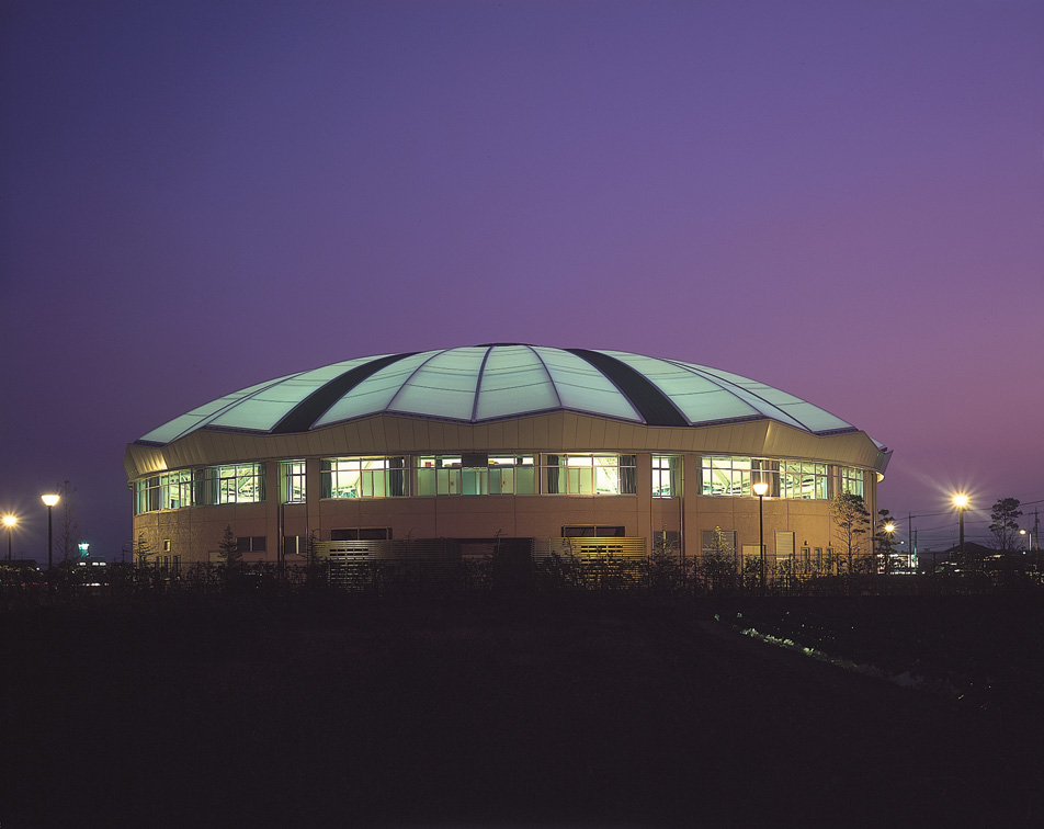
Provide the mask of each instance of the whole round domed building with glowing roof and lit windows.
{"label": "whole round domed building with glowing roof and lit windows", "polygon": [[831,560],[831,500],[890,453],[785,391],[679,360],[497,343],[385,354],[226,395],[129,444],[134,538],[178,569],[440,550]]}

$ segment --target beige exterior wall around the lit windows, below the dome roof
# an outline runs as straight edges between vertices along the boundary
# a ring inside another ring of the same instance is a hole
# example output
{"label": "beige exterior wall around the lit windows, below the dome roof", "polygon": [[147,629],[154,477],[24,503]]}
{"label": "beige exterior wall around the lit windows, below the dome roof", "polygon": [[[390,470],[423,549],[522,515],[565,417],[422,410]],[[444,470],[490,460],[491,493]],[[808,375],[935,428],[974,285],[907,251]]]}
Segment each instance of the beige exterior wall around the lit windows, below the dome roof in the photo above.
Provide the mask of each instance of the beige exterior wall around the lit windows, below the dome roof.
{"label": "beige exterior wall around the lit windows, below the dome roof", "polygon": [[[459,452],[519,454],[613,452],[637,458],[634,496],[441,496],[332,500],[320,499],[322,457],[418,455]],[[653,454],[683,456],[680,498],[654,499]],[[871,514],[876,510],[877,473],[887,456],[862,432],[817,436],[774,421],[754,420],[701,428],[643,427],[604,418],[554,412],[468,425],[419,418],[377,416],[291,435],[197,431],[164,446],[132,444],[125,467],[134,481],[158,472],[223,463],[264,462],[263,503],[189,507],[134,516],[134,537],[144,536],[157,555],[181,564],[213,558],[225,527],[236,536],[264,536],[265,553],[247,560],[277,560],[282,536],[329,541],[341,527],[390,527],[394,538],[559,537],[570,524],[623,525],[628,536],[651,545],[656,533],[677,532],[681,552],[702,552],[703,532],[736,532],[737,548],[757,545],[757,498],[706,497],[700,491],[704,454],[802,458],[864,469]],[[307,502],[281,503],[279,461],[307,461]],[[774,557],[775,532],[794,533],[802,546],[835,546],[829,501],[764,500],[767,554]],[[170,550],[163,549],[170,541]],[[293,557],[287,559],[294,561]]]}

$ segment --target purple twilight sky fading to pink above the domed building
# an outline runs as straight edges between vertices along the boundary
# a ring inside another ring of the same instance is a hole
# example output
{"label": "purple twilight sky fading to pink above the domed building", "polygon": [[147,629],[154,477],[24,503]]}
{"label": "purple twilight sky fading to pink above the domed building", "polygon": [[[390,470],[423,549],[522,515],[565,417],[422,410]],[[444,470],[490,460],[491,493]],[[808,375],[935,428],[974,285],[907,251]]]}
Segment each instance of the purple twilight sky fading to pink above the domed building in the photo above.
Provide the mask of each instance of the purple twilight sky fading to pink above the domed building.
{"label": "purple twilight sky fading to pink above the domed building", "polygon": [[14,555],[68,479],[118,559],[202,402],[490,341],[804,397],[922,547],[1044,509],[1042,150],[1041,0],[0,0]]}

